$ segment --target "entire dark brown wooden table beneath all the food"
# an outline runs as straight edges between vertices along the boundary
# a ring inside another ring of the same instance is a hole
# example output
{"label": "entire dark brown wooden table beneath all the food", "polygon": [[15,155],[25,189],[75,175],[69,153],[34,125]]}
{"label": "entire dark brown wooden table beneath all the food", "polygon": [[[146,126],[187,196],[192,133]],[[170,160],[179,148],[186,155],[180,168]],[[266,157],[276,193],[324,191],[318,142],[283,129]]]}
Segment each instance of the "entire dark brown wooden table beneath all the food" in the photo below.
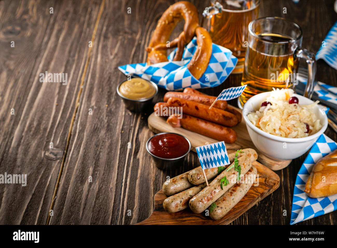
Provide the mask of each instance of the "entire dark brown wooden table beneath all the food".
{"label": "entire dark brown wooden table beneath all the food", "polygon": [[[27,174],[26,187],[0,185],[0,224],[135,224],[152,213],[153,196],[166,176],[198,165],[191,152],[179,170],[157,169],[145,149],[153,135],[147,127],[151,108],[131,113],[116,93],[125,80],[117,66],[145,61],[151,32],[174,2],[0,2],[0,173]],[[200,12],[206,7],[204,1],[192,2]],[[303,47],[316,52],[337,20],[333,3],[264,0],[261,11],[297,22],[304,30]],[[336,70],[322,60],[317,68],[318,80],[337,86]],[[67,85],[41,83],[45,71],[67,73]],[[203,92],[217,95],[240,79],[231,75]],[[325,134],[337,140],[332,129]],[[232,224],[289,224],[305,157],[277,171],[279,189]],[[336,219],[333,212],[299,225]]]}

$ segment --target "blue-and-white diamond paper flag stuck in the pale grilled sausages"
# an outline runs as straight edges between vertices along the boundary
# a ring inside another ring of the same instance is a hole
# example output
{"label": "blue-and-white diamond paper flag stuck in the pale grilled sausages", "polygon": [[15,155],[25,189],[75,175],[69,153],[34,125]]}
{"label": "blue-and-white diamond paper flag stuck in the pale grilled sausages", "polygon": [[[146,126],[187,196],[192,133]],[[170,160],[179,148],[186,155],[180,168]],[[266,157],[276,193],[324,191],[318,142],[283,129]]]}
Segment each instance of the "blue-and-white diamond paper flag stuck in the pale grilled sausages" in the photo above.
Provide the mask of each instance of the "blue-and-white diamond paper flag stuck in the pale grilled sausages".
{"label": "blue-and-white diamond paper flag stuck in the pale grilled sausages", "polygon": [[200,165],[203,169],[225,166],[229,164],[229,158],[225,142],[207,144],[195,147]]}

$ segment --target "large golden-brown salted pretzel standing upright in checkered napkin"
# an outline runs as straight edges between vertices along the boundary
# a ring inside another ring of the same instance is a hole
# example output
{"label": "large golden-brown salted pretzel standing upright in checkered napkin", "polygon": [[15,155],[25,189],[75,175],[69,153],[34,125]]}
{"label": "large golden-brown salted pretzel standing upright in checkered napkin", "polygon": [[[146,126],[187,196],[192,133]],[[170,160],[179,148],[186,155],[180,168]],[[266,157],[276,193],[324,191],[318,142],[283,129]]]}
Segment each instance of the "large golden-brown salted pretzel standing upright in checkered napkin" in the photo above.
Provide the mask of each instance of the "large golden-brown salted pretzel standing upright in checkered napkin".
{"label": "large golden-brown salted pretzel standing upright in checkered napkin", "polygon": [[[185,20],[184,30],[167,47],[166,42],[173,29],[183,19]],[[173,60],[181,60],[185,45],[192,40],[195,34],[197,35],[198,50],[195,51],[187,68],[195,78],[199,79],[206,71],[211,58],[212,39],[206,29],[199,27],[198,11],[192,3],[187,1],[180,1],[171,5],[159,19],[150,44],[146,49],[148,52],[147,63],[155,64],[168,61],[166,50],[174,47],[178,47],[178,49]]]}

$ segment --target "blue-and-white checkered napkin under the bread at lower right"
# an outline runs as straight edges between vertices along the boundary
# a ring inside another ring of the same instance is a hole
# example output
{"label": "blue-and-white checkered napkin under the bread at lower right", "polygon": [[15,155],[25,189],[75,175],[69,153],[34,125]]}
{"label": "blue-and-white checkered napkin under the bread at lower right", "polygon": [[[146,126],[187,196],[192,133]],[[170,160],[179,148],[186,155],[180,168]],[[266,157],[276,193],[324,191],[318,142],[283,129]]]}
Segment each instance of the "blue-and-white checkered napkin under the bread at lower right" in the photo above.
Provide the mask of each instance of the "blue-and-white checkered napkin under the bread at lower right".
{"label": "blue-and-white checkered napkin under the bread at lower right", "polygon": [[290,225],[330,213],[337,209],[337,194],[328,197],[310,198],[304,192],[305,183],[313,166],[318,160],[336,149],[337,143],[325,134],[319,136],[312,146],[296,177]]}

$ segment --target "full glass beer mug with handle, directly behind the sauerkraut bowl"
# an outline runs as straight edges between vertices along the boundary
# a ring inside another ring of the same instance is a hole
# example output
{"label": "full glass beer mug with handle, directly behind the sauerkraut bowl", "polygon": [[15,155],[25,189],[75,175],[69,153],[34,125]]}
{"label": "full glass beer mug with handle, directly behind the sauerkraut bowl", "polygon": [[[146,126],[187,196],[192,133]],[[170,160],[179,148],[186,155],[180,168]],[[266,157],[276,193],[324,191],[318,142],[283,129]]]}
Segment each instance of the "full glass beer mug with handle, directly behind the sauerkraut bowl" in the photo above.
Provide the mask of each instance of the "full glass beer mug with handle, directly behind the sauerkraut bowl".
{"label": "full glass beer mug with handle, directly behind the sauerkraut bowl", "polygon": [[259,18],[248,26],[248,47],[241,85],[247,85],[238,99],[239,107],[258,93],[297,85],[300,58],[308,64],[304,96],[311,98],[315,82],[315,55],[301,47],[303,33],[296,23],[279,17]]}

